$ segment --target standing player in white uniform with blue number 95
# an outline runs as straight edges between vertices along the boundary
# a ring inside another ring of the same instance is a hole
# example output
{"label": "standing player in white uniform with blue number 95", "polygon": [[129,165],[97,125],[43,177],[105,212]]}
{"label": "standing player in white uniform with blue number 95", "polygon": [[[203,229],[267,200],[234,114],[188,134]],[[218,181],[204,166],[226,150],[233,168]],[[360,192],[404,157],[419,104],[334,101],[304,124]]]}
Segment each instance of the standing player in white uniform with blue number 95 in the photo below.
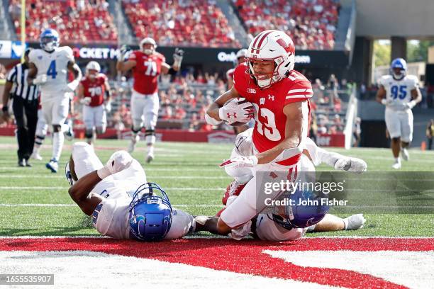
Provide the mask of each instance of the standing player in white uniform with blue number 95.
{"label": "standing player in white uniform with blue number 95", "polygon": [[402,58],[391,62],[390,74],[378,81],[377,101],[386,106],[384,120],[391,138],[394,155],[392,168],[401,169],[401,157],[408,161],[408,146],[413,139],[413,113],[411,109],[422,101],[418,78],[407,75],[407,63]]}

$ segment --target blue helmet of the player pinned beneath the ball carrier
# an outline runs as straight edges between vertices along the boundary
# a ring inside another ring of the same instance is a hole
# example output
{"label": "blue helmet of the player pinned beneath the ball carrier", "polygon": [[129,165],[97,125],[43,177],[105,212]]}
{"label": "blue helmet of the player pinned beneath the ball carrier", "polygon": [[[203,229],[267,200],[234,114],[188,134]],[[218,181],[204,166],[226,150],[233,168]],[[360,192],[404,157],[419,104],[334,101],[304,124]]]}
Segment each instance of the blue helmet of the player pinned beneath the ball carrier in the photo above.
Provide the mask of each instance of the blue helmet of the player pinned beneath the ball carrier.
{"label": "blue helmet of the player pinned beneath the ball carrier", "polygon": [[[274,222],[277,222],[277,224],[285,229],[306,228],[316,225],[323,220],[325,214],[330,210],[328,205],[321,205],[320,198],[311,191],[297,189],[291,194],[289,199],[293,200],[295,205],[286,205],[283,216],[282,214],[272,214],[272,217],[268,215]],[[319,205],[298,205],[299,200],[318,200]]]}

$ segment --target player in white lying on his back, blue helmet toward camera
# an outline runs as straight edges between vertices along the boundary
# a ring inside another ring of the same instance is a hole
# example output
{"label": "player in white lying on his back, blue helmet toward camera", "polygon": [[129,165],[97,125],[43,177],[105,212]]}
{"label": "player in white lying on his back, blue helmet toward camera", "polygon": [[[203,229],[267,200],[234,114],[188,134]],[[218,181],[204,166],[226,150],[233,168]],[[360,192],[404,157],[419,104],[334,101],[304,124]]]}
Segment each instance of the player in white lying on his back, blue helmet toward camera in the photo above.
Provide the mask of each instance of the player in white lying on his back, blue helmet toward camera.
{"label": "player in white lying on his back, blue helmet toward camera", "polygon": [[128,152],[115,152],[103,166],[91,145],[76,142],[65,173],[72,185],[69,196],[103,235],[157,241],[194,232],[194,217],[172,208],[165,191],[146,182],[145,171]]}

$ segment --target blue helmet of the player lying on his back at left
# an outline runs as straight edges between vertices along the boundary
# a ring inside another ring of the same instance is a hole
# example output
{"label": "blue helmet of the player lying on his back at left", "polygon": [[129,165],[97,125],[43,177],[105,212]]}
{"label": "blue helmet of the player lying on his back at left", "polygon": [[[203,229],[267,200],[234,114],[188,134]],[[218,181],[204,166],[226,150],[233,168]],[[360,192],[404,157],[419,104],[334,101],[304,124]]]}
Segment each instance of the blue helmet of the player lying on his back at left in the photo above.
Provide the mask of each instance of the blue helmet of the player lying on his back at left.
{"label": "blue helmet of the player lying on his back at left", "polygon": [[130,203],[130,234],[140,241],[164,239],[172,225],[172,212],[167,193],[156,183],[144,183],[134,192]]}

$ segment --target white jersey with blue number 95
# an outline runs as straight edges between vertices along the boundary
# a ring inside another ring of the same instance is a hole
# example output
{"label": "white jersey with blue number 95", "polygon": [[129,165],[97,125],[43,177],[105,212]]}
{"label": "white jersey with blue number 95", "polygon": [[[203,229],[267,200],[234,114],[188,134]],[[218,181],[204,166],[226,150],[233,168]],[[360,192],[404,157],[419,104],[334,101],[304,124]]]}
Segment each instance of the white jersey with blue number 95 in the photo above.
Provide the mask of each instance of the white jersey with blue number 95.
{"label": "white jersey with blue number 95", "polygon": [[378,84],[384,86],[386,100],[391,101],[387,107],[403,110],[404,104],[411,101],[411,91],[419,86],[419,81],[415,75],[407,75],[401,80],[396,80],[391,75],[384,75],[379,79]]}

